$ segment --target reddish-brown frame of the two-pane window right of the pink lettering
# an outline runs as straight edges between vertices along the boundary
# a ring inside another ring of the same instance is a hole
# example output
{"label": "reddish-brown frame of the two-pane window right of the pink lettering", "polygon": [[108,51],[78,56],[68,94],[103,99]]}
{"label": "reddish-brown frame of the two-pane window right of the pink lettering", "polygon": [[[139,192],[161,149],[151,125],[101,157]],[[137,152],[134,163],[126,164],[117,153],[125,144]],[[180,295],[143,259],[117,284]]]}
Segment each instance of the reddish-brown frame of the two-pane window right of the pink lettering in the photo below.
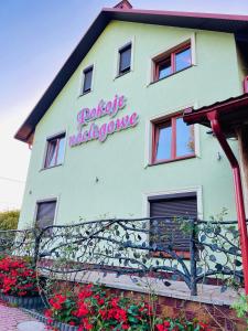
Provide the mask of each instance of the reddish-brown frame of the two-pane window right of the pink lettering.
{"label": "reddish-brown frame of the two-pane window right of the pink lettering", "polygon": [[[152,151],[151,151],[151,164],[161,164],[161,163],[169,163],[185,159],[195,158],[195,127],[192,126],[193,129],[193,139],[194,139],[194,151],[192,153],[187,153],[185,156],[176,157],[176,119],[182,118],[183,113],[176,113],[173,115],[169,115],[165,117],[162,117],[158,120],[152,121]],[[172,138],[171,138],[171,158],[170,159],[163,159],[163,160],[157,160],[157,149],[158,149],[158,142],[159,142],[159,134],[162,128],[165,128],[168,124],[171,124],[172,127]]]}

